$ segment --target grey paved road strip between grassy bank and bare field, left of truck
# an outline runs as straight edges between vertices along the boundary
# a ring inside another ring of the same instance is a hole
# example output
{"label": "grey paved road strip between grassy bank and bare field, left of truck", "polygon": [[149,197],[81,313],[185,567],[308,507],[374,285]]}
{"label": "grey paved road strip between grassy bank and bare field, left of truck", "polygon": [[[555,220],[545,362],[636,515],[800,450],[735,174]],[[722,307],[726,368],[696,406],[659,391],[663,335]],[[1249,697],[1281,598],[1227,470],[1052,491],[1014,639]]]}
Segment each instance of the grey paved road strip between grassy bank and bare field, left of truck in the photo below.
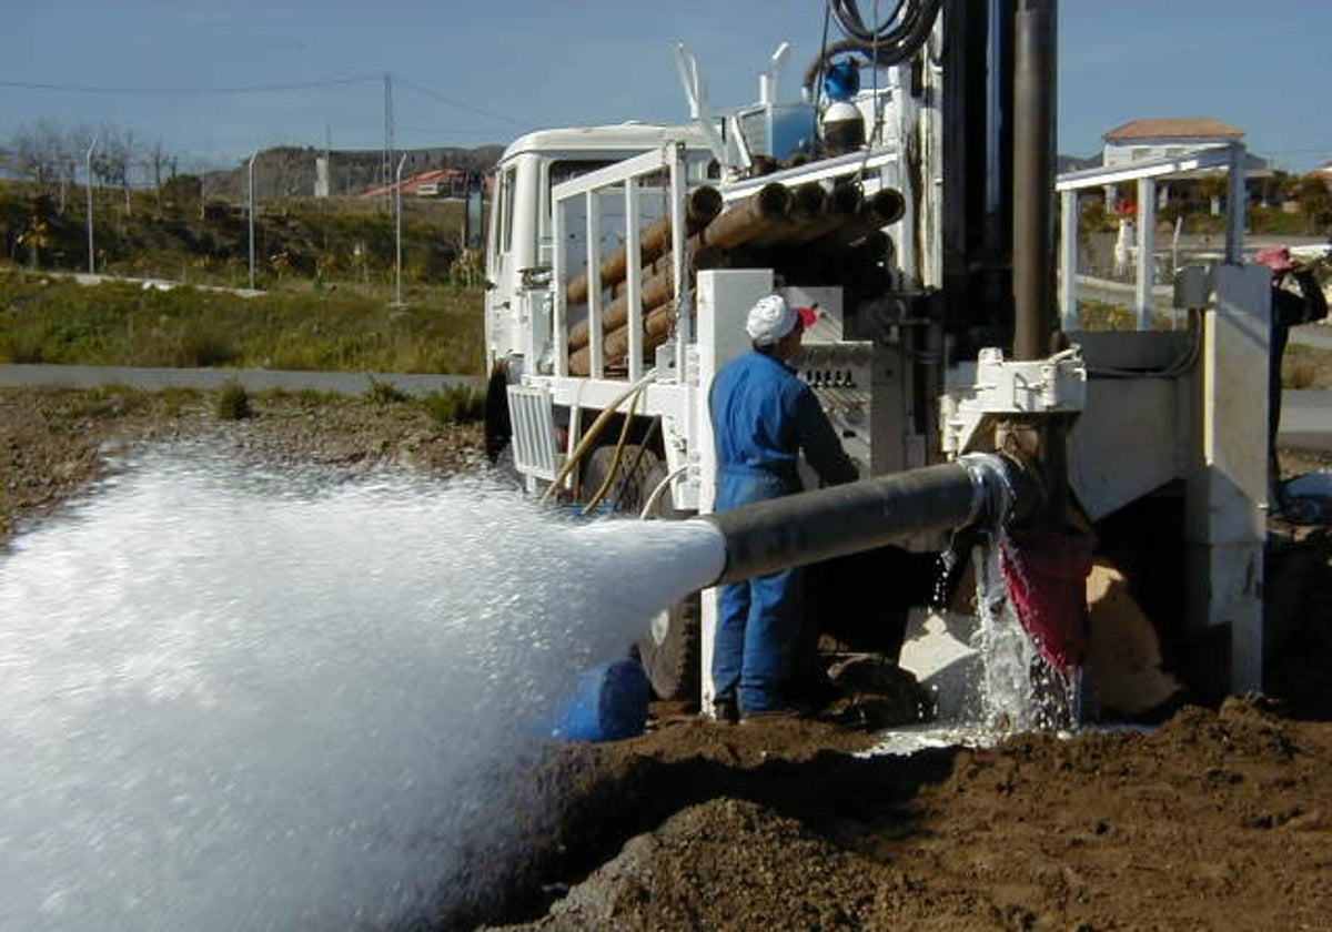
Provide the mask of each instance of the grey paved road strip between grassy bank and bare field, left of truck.
{"label": "grey paved road strip between grassy bank and bare field, left of truck", "polygon": [[484,379],[474,375],[416,375],[402,373],[313,373],[281,371],[272,369],[131,369],[124,366],[0,366],[0,386],[49,385],[92,387],[97,385],[127,385],[132,389],[218,389],[236,381],[248,391],[286,389],[289,391],[314,390],[357,395],[370,387],[370,379],[386,382],[400,391],[424,395],[458,385],[481,387]]}

